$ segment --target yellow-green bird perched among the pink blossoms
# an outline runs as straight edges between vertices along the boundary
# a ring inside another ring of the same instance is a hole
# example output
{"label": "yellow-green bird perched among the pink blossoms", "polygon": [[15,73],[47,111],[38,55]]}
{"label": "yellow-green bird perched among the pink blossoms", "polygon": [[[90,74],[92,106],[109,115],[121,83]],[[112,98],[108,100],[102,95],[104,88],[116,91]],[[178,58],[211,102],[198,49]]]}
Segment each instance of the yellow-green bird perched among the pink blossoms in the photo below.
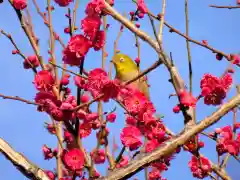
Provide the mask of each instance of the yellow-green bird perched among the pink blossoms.
{"label": "yellow-green bird perched among the pink blossoms", "polygon": [[[136,77],[140,72],[137,64],[126,54],[118,53],[113,56],[112,63],[116,70],[116,78],[126,82]],[[148,83],[145,77],[131,83],[149,99]]]}

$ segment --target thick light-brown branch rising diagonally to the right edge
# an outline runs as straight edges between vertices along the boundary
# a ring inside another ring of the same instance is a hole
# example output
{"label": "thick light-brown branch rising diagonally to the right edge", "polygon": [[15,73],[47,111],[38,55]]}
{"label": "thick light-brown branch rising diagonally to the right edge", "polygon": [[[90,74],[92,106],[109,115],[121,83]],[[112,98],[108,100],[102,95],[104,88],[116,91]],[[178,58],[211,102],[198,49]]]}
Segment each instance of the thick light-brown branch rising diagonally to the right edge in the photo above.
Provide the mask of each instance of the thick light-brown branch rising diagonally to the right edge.
{"label": "thick light-brown branch rising diagonally to the right edge", "polygon": [[140,171],[143,167],[149,165],[150,163],[161,159],[162,157],[172,154],[179,146],[185,144],[188,140],[190,140],[194,135],[203,131],[207,127],[213,125],[218,122],[222,116],[227,114],[231,109],[240,104],[240,95],[236,95],[229,102],[222,105],[217,111],[215,111],[211,116],[205,118],[198,124],[192,126],[191,129],[187,131],[184,130],[179,135],[174,137],[172,140],[169,140],[157,148],[151,153],[141,153],[137,155],[136,160],[133,160],[129,163],[128,166],[124,168],[120,168],[116,171],[110,173],[107,177],[99,178],[98,180],[118,180],[118,179],[126,179],[131,177]]}

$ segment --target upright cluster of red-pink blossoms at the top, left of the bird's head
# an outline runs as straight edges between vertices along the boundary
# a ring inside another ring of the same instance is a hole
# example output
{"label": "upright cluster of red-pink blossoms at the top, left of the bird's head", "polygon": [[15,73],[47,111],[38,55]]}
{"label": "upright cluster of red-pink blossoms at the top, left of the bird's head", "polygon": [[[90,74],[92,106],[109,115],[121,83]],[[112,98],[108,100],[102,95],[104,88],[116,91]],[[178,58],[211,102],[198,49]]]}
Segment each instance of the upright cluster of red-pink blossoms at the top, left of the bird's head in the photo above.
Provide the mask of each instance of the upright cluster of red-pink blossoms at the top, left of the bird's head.
{"label": "upright cluster of red-pink blossoms at the top, left of the bird's head", "polygon": [[90,48],[98,51],[104,46],[105,32],[100,30],[101,17],[104,15],[104,3],[102,0],[93,0],[88,3],[85,10],[86,17],[81,21],[83,34],[71,37],[63,51],[64,63],[79,66]]}

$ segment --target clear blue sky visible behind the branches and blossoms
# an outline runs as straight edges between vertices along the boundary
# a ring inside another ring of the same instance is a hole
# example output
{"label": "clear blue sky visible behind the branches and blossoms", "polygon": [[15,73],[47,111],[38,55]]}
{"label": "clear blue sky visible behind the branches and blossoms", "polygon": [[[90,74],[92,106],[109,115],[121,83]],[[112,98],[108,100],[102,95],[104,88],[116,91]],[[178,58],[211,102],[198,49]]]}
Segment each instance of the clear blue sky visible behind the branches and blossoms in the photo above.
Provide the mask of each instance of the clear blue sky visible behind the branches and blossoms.
{"label": "clear blue sky visible behind the branches and blossoms", "polygon": [[[87,0],[80,0],[80,8],[77,13],[77,26],[80,26],[80,19],[84,17],[84,8],[87,4]],[[161,1],[159,0],[145,0],[148,8],[155,14],[161,11]],[[42,10],[45,9],[46,2],[38,0],[39,6]],[[240,25],[239,15],[240,10],[227,10],[227,9],[213,9],[209,8],[209,4],[218,5],[235,5],[235,0],[209,0],[209,1],[190,1],[189,3],[189,19],[190,19],[190,36],[196,40],[208,40],[208,43],[216,49],[222,50],[226,53],[238,53],[240,42]],[[129,12],[135,9],[131,0],[115,0],[115,8],[121,13],[124,11]],[[48,38],[49,31],[43,24],[41,17],[39,17],[29,0],[29,9],[34,19],[34,30],[38,37],[40,37],[41,54],[45,59],[48,59]],[[54,29],[61,35],[64,42],[67,43],[68,36],[63,34],[63,29],[68,25],[68,21],[64,14],[67,12],[66,8],[56,8],[53,13],[53,25]],[[107,34],[107,53],[109,57],[113,55],[113,42],[116,39],[119,23],[114,21],[111,17],[107,18],[110,28]],[[166,21],[173,25],[180,31],[185,31],[185,17],[184,17],[184,1],[168,1],[166,8]],[[153,37],[153,32],[146,17],[140,20],[141,29],[148,32]],[[158,25],[158,23],[156,23]],[[10,7],[7,0],[3,4],[0,4],[0,29],[12,34],[19,48],[25,55],[32,55],[32,48],[24,36],[20,23],[17,20],[16,14]],[[157,54],[151,47],[143,41],[141,43],[141,68],[147,68],[157,59]],[[134,36],[129,30],[124,30],[124,33],[119,41],[119,49],[126,54],[129,54],[132,58],[137,56],[137,49],[134,47]],[[185,39],[174,34],[169,33],[168,29],[164,29],[163,45],[166,52],[173,54],[173,59],[178,67],[181,76],[188,83],[188,67],[187,67],[187,51]],[[11,43],[3,36],[0,36],[1,47],[1,71],[0,71],[0,93],[5,95],[18,95],[26,99],[33,99],[36,93],[32,84],[33,74],[32,71],[24,70],[22,67],[22,59],[19,56],[13,56],[11,51],[13,49]],[[61,62],[61,46],[56,43],[56,56],[58,62]],[[198,95],[200,93],[199,81],[204,73],[212,73],[216,76],[220,76],[227,67],[226,61],[216,61],[215,55],[209,50],[199,47],[195,44],[191,44],[192,60],[193,60],[193,94]],[[91,50],[86,57],[85,68],[87,70],[101,66],[101,52],[94,52]],[[76,71],[76,68],[71,68]],[[236,74],[239,73],[239,69],[236,69]],[[239,83],[240,76],[234,76],[234,85]],[[164,115],[164,123],[172,129],[174,132],[179,132],[183,128],[183,117],[181,114],[173,114],[172,108],[177,103],[176,98],[168,99],[168,95],[173,93],[173,87],[167,81],[169,74],[166,68],[161,66],[157,70],[154,70],[148,75],[151,88],[151,99],[154,102],[157,112]],[[76,90],[74,86],[73,92]],[[232,97],[235,93],[234,87],[228,94],[227,99]],[[108,111],[115,104],[110,102],[104,105],[104,110]],[[44,122],[49,122],[49,118],[44,113],[36,111],[36,107],[32,105],[23,104],[21,102],[2,100],[0,99],[0,137],[9,142],[14,149],[18,152],[24,153],[31,161],[38,164],[43,169],[52,170],[55,167],[55,161],[43,160],[41,147],[43,144],[47,144],[50,147],[56,146],[56,139],[47,133],[44,128]],[[94,110],[95,106],[93,106]],[[205,106],[202,101],[197,104],[197,120],[200,121],[205,116],[210,115],[216,107]],[[123,111],[118,107],[119,115],[116,123],[109,125],[111,129],[110,134],[116,135],[116,139],[119,142],[119,131],[124,126]],[[239,114],[239,113],[238,113]],[[220,123],[209,128],[213,130],[215,127],[224,126],[232,122],[232,113],[225,116]],[[89,139],[91,141],[89,141]],[[96,142],[93,141],[95,135],[92,135],[88,139],[84,140],[84,145],[87,150],[91,150],[95,147]],[[215,143],[207,140],[205,137],[201,138],[205,142],[205,148],[201,152],[209,157],[213,162],[216,162],[217,155],[215,152]],[[91,142],[91,143],[89,143]],[[94,142],[94,143],[92,143]],[[193,179],[190,170],[188,168],[188,161],[190,160],[189,153],[183,152],[177,155],[172,161],[169,170],[163,173],[163,176],[169,180]],[[234,169],[239,168],[234,160],[229,161],[230,164],[227,167],[229,174],[235,180],[237,171]],[[25,179],[21,173],[13,168],[2,155],[0,155],[0,169],[1,179]],[[99,167],[100,172],[105,172],[104,167]],[[139,179],[143,179],[142,174],[137,175]]]}

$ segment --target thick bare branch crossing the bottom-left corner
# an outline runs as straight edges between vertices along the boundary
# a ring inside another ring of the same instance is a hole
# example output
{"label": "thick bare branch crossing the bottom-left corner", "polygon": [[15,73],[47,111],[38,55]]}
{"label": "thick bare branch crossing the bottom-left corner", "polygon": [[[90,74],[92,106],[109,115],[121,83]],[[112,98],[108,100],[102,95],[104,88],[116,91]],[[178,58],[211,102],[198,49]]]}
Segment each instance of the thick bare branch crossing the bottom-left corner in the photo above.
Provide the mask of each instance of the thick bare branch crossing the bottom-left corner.
{"label": "thick bare branch crossing the bottom-left corner", "polygon": [[0,151],[26,177],[34,180],[49,180],[45,172],[30,162],[21,153],[16,152],[6,141],[0,138]]}

